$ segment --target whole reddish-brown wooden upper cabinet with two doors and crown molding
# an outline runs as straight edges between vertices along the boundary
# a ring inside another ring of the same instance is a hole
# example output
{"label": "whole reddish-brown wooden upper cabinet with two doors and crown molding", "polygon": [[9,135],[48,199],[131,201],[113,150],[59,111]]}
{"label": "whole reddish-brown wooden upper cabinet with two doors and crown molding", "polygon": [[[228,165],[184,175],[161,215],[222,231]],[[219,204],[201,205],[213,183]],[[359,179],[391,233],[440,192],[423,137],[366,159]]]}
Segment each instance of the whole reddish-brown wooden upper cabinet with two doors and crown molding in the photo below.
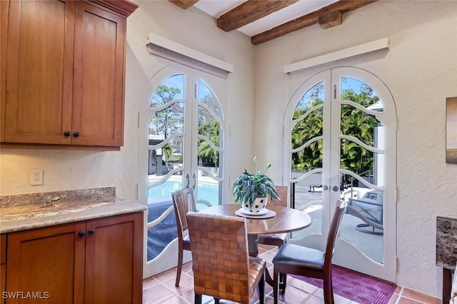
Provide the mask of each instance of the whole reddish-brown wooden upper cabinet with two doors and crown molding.
{"label": "whole reddish-brown wooden upper cabinet with two doors and crown molding", "polygon": [[136,7],[130,1],[9,2],[1,30],[7,36],[2,147],[123,146],[126,17]]}

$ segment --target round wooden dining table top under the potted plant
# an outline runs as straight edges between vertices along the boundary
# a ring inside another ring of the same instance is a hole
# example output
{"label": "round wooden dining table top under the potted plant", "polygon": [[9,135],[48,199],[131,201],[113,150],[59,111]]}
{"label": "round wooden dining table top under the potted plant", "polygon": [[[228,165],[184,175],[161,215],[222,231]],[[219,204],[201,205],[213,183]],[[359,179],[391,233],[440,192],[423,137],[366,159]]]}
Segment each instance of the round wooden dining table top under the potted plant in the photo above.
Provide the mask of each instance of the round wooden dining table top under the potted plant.
{"label": "round wooden dining table top under the potted plant", "polygon": [[[238,203],[212,206],[201,210],[201,213],[236,216],[240,208]],[[283,206],[269,206],[267,209],[276,212],[273,218],[246,218],[248,234],[274,234],[301,230],[311,225],[311,216],[305,211],[299,211]]]}

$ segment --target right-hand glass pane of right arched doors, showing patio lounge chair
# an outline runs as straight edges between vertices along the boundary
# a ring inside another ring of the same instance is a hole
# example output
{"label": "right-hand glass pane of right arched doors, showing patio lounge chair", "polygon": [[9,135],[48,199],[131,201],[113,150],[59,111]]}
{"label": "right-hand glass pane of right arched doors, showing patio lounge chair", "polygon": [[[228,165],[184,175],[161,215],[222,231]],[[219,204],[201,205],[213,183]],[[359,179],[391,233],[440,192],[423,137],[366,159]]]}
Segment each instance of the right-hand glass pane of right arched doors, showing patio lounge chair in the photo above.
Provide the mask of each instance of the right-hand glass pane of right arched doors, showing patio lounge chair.
{"label": "right-hand glass pane of right arched doors, showing patio lounge chair", "polygon": [[384,137],[376,113],[382,112],[382,102],[368,84],[341,78],[340,193],[348,211],[340,237],[378,263],[383,263]]}

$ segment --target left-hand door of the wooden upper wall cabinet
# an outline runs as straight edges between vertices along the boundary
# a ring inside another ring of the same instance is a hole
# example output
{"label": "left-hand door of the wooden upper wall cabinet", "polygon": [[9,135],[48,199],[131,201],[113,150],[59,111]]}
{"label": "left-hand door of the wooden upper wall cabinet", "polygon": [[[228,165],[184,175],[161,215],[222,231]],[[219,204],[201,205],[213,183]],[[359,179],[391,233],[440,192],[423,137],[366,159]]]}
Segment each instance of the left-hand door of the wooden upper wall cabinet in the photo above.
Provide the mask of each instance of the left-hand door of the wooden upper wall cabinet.
{"label": "left-hand door of the wooden upper wall cabinet", "polygon": [[4,141],[69,144],[75,2],[9,5]]}

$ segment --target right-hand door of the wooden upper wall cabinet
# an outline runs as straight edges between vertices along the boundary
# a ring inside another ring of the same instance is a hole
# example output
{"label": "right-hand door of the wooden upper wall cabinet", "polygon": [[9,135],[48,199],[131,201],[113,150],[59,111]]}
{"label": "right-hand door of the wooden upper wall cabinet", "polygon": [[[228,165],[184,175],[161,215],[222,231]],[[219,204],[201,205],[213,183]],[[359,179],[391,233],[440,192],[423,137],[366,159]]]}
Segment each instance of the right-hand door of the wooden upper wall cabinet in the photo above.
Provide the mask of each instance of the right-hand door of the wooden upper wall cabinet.
{"label": "right-hand door of the wooden upper wall cabinet", "polygon": [[76,3],[72,144],[122,146],[126,17]]}

